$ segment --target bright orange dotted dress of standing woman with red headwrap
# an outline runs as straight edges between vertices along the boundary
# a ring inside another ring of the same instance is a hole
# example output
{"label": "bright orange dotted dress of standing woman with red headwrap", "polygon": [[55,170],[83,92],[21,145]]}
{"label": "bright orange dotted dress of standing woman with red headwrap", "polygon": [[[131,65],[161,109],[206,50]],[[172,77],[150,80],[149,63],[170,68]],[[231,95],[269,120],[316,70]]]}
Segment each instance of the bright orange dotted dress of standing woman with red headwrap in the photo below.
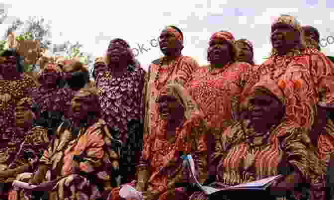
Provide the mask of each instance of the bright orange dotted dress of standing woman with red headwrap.
{"label": "bright orange dotted dress of standing woman with red headwrap", "polygon": [[194,72],[188,91],[209,127],[221,127],[222,120],[231,120],[231,97],[242,93],[251,68],[248,63],[237,62],[214,70],[201,67]]}

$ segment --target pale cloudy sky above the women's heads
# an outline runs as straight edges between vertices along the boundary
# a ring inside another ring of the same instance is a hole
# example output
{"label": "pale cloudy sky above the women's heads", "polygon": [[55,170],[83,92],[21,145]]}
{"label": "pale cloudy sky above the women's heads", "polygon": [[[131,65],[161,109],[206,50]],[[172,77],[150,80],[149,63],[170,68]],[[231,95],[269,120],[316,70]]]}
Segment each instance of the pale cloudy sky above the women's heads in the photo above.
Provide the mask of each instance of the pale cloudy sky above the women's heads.
{"label": "pale cloudy sky above the women's heads", "polygon": [[[52,40],[79,41],[83,50],[102,56],[113,38],[129,42],[142,67],[162,56],[157,39],[166,25],[176,25],[184,35],[183,55],[191,56],[200,65],[207,63],[207,42],[212,33],[227,30],[236,39],[246,38],[254,44],[254,59],[261,64],[269,55],[270,25],[279,14],[291,14],[302,25],[313,25],[321,38],[334,39],[334,0],[4,0],[8,19],[43,16],[51,23]],[[2,31],[3,32],[3,31]],[[2,35],[2,33],[0,34]],[[144,44],[140,52],[139,46]],[[152,42],[156,46],[156,41]],[[323,43],[325,46],[327,42]],[[137,53],[138,52],[138,53]],[[323,47],[326,55],[334,56],[334,44]]]}

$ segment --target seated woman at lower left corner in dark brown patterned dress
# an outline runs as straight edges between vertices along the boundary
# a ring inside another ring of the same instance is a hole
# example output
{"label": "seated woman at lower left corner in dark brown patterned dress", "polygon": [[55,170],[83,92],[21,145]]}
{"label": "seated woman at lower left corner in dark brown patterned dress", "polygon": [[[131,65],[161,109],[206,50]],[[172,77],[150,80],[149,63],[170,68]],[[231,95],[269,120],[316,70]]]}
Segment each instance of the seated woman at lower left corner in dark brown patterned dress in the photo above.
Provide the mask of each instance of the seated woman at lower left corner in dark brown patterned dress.
{"label": "seated woman at lower left corner in dark brown patterned dress", "polygon": [[7,195],[18,174],[32,172],[49,143],[47,129],[35,124],[38,114],[38,108],[31,98],[17,102],[15,127],[7,128],[2,138],[0,183],[4,183],[1,185],[4,188],[1,196]]}

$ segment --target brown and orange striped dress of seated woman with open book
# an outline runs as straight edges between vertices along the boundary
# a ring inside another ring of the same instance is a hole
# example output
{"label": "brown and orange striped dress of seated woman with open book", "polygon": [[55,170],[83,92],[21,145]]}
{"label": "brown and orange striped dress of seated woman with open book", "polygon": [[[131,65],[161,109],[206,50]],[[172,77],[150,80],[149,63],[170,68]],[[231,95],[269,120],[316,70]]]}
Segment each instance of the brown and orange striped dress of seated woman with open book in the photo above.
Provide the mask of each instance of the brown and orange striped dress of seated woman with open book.
{"label": "brown and orange striped dress of seated woman with open book", "polygon": [[[316,176],[310,166],[318,165],[315,155],[308,150],[312,144],[305,131],[294,123],[282,122],[255,143],[249,121],[235,122],[216,144],[212,156],[213,163],[217,164],[216,178],[210,186],[225,188],[279,174],[286,176],[293,169],[300,172],[305,182],[311,183]],[[196,192],[190,200],[207,198],[204,193]],[[299,199],[295,193],[286,198]]]}

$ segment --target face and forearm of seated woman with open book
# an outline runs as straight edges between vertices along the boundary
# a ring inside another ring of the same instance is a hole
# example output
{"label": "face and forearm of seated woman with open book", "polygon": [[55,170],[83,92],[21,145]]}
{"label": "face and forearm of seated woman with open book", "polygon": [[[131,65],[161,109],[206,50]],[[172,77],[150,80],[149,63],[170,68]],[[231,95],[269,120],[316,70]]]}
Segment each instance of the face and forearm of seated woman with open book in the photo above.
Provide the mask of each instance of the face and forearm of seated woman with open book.
{"label": "face and forearm of seated woman with open book", "polygon": [[[250,111],[251,126],[256,132],[266,132],[274,124],[278,124],[285,113],[284,105],[271,96],[256,96],[250,100],[253,110]],[[265,121],[265,123],[263,123]],[[255,138],[256,140],[256,138]],[[284,196],[288,191],[293,190],[302,183],[302,176],[298,171],[292,172],[287,177],[279,180],[277,184],[270,187],[270,194],[273,196]]]}

